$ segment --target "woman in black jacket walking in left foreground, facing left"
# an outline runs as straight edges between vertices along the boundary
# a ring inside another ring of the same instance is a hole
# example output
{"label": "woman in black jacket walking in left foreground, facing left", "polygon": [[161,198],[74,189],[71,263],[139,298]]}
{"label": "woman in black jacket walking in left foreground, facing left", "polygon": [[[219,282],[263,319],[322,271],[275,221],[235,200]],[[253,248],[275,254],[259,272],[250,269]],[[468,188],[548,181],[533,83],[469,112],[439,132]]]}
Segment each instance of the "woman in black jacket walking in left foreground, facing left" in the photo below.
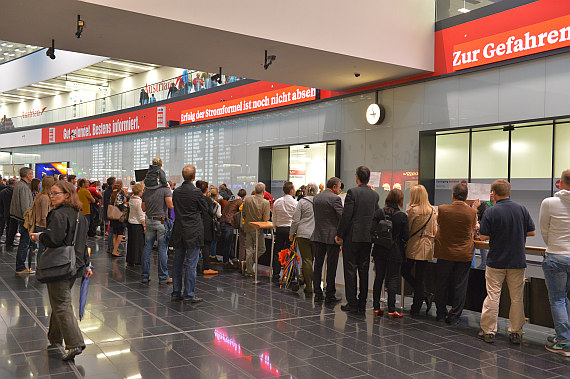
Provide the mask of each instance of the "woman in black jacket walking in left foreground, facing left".
{"label": "woman in black jacket walking in left foreground, facing left", "polygon": [[32,233],[34,241],[40,241],[47,249],[71,246],[75,240],[75,265],[77,274],[74,277],[47,283],[51,316],[49,320],[48,340],[52,347],[61,346],[65,340],[67,352],[62,356],[64,361],[73,359],[85,349],[85,341],[79,330],[77,319],[71,306],[71,288],[75,279],[93,274],[87,251],[87,220],[80,212],[81,202],[73,185],[58,181],[49,194],[52,209],[47,216],[46,230]]}

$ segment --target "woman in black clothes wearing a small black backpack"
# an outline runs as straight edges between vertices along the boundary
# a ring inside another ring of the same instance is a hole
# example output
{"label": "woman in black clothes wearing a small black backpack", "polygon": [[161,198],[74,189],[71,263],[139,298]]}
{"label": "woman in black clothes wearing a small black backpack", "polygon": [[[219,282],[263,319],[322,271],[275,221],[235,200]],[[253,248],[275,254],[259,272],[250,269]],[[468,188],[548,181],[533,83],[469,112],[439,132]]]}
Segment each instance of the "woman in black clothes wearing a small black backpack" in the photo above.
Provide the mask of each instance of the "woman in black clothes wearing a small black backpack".
{"label": "woman in black clothes wearing a small black backpack", "polygon": [[386,197],[386,206],[374,213],[374,224],[385,217],[392,221],[392,247],[385,248],[376,246],[372,249],[376,277],[374,278],[374,290],[372,293],[374,314],[382,315],[380,309],[380,295],[382,282],[388,287],[388,316],[400,318],[402,314],[396,312],[396,290],[398,278],[400,278],[400,266],[406,260],[406,243],[410,238],[408,216],[400,208],[404,206],[404,193],[399,189],[393,189]]}

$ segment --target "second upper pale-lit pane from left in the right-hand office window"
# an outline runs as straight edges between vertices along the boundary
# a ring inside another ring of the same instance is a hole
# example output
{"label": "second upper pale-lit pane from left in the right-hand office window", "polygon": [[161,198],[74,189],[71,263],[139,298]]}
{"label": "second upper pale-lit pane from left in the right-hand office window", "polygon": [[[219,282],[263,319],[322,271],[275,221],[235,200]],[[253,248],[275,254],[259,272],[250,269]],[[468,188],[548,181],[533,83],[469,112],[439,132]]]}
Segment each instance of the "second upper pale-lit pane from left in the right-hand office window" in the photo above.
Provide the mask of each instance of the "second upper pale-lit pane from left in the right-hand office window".
{"label": "second upper pale-lit pane from left in the right-hand office window", "polygon": [[502,129],[474,131],[471,149],[471,179],[507,179],[508,132]]}

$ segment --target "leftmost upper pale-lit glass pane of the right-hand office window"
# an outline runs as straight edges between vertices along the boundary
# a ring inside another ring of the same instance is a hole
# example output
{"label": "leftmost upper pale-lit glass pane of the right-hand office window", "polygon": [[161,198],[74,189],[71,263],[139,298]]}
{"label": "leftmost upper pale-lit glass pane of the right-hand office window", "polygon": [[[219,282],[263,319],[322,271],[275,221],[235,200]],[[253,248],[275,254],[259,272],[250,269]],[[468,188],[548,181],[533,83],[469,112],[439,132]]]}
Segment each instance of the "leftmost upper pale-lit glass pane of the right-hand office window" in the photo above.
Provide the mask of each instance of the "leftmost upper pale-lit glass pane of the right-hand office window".
{"label": "leftmost upper pale-lit glass pane of the right-hand office window", "polygon": [[435,144],[435,178],[467,178],[469,170],[469,133],[438,135]]}

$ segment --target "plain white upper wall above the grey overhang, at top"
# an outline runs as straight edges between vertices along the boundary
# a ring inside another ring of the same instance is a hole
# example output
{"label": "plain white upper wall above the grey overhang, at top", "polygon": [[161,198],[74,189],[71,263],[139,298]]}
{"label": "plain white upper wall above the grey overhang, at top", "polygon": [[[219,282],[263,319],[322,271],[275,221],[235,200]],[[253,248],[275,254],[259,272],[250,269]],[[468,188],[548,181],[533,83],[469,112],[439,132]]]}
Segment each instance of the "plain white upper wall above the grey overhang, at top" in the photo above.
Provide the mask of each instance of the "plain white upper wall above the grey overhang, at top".
{"label": "plain white upper wall above the grey overhang, at top", "polygon": [[433,71],[433,0],[163,0],[160,7],[154,0],[83,1]]}

